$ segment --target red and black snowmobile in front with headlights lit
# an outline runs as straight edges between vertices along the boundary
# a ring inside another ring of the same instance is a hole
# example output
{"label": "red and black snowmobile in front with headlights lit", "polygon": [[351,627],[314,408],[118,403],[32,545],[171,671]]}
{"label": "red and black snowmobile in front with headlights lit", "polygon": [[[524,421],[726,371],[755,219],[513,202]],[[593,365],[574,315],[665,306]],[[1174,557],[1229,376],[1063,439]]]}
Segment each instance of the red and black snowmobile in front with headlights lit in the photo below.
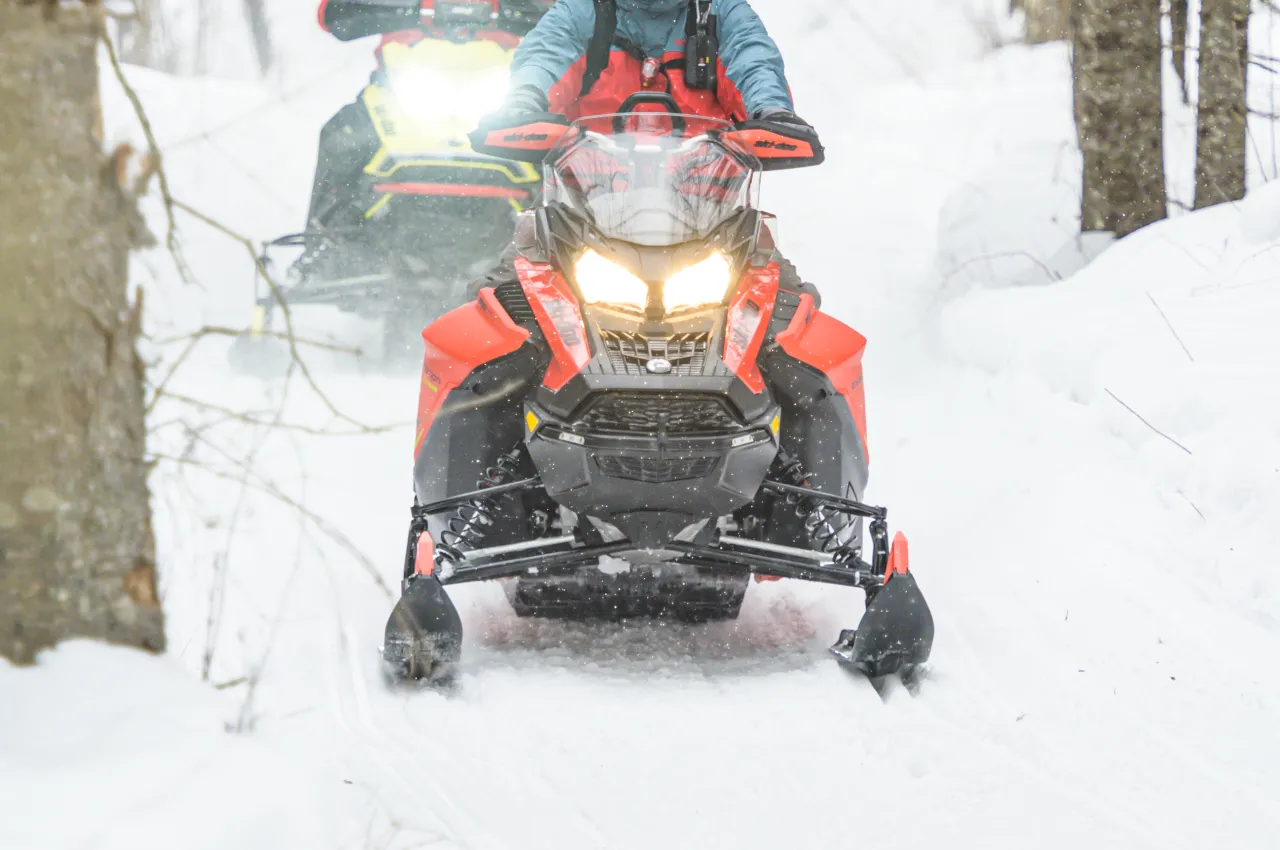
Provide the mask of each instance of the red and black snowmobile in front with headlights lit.
{"label": "red and black snowmobile in front with headlights lit", "polygon": [[[669,111],[644,111],[658,106]],[[822,161],[666,95],[488,133],[545,157],[518,280],[424,332],[403,595],[383,659],[448,676],[445,588],[503,580],[520,616],[737,616],[751,576],[861,588],[832,652],[868,676],[929,657],[933,618],[867,485],[865,339],[780,285],[759,173]]]}

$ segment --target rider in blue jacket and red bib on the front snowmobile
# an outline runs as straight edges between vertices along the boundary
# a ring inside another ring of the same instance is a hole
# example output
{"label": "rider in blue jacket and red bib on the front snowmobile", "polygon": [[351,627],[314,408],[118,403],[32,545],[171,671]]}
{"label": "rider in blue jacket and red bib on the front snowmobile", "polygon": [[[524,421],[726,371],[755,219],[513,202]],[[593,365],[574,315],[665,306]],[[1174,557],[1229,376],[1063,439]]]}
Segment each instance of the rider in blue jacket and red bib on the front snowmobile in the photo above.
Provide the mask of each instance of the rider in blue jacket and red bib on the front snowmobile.
{"label": "rider in blue jacket and red bib on the front snowmobile", "polygon": [[[681,113],[814,129],[795,114],[782,52],[748,0],[559,0],[516,50],[507,100],[481,128],[618,111],[637,91],[669,93]],[[481,285],[515,279],[508,251]],[[777,257],[783,288],[813,294]]]}

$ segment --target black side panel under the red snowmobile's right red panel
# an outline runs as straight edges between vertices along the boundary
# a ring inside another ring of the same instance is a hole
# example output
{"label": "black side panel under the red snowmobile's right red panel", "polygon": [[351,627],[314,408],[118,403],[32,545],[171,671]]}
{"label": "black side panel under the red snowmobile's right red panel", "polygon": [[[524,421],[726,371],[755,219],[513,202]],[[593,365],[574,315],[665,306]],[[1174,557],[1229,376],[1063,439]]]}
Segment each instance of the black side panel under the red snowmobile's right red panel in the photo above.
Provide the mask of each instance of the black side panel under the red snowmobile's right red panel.
{"label": "black side panel under the red snowmobile's right red panel", "polygon": [[[867,452],[849,403],[822,373],[774,348],[762,370],[782,406],[782,451],[800,460],[810,484],[833,495],[861,499],[867,489]],[[767,539],[809,547],[804,518],[781,503],[767,513]]]}

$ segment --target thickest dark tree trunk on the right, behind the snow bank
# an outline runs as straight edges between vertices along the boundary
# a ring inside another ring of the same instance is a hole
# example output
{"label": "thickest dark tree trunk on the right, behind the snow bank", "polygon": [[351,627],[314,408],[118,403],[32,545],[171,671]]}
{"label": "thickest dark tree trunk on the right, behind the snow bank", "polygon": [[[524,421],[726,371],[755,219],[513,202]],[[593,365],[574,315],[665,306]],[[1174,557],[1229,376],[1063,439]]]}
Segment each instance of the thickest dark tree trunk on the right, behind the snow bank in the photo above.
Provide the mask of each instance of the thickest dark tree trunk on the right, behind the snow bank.
{"label": "thickest dark tree trunk on the right, behind the snow bank", "polygon": [[1160,0],[1074,0],[1080,227],[1126,236],[1165,218]]}

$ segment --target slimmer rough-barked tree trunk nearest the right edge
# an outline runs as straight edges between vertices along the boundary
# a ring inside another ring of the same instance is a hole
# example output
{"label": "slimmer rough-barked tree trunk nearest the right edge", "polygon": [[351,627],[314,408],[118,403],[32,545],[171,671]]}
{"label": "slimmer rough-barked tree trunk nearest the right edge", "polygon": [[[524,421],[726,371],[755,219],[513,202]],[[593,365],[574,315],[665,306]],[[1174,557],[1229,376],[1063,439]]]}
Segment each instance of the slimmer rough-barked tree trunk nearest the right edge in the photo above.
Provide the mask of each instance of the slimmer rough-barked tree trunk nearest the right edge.
{"label": "slimmer rough-barked tree trunk nearest the right edge", "polygon": [[1196,209],[1244,197],[1249,0],[1201,6]]}

